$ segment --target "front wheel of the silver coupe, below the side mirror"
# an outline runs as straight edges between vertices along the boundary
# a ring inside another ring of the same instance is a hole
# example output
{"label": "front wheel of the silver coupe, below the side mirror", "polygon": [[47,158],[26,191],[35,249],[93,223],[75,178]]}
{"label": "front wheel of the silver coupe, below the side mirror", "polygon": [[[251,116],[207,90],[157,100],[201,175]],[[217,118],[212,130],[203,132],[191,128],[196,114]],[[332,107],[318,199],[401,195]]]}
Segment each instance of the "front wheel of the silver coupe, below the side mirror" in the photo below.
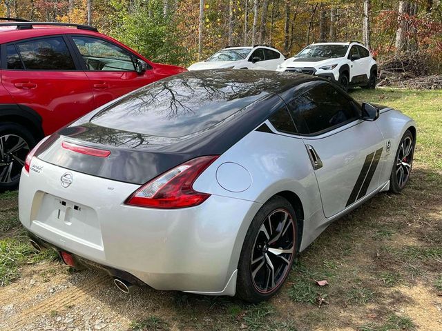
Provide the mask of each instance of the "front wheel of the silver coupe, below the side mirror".
{"label": "front wheel of the silver coupe, below the side mirror", "polygon": [[414,139],[410,130],[405,131],[394,157],[390,174],[390,192],[399,193],[407,185],[413,165]]}

